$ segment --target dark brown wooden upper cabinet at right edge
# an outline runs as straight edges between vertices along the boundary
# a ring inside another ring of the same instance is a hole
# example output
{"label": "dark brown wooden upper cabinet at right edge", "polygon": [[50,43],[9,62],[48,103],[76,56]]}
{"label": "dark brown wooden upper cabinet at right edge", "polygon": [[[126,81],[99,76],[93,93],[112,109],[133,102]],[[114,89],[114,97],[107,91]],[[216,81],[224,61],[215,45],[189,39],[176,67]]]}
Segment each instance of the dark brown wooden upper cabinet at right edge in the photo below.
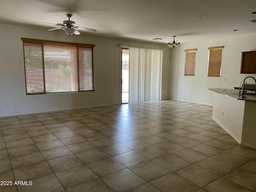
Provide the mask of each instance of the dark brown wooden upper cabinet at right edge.
{"label": "dark brown wooden upper cabinet at right edge", "polygon": [[256,51],[242,52],[240,73],[256,74]]}

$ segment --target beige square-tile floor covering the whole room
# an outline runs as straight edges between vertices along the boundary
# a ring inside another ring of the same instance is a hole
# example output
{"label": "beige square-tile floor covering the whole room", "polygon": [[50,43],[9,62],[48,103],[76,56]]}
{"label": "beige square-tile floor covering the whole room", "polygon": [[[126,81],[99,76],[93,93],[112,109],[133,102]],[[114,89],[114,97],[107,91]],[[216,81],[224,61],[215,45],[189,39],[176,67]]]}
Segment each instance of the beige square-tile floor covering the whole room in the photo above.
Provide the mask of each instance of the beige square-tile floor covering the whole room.
{"label": "beige square-tile floor covering the whole room", "polygon": [[211,114],[168,100],[2,117],[0,181],[32,185],[0,192],[256,191],[256,150]]}

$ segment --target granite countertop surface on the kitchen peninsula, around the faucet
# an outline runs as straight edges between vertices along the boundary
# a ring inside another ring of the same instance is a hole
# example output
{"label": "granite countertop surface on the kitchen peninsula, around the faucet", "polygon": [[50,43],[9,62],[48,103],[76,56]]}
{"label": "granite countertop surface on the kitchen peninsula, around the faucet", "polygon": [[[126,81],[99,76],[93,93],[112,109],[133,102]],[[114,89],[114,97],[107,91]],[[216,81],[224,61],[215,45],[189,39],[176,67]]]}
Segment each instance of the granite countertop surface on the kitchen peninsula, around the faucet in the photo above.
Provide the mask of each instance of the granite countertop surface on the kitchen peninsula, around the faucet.
{"label": "granite countertop surface on the kitchen peninsula, around the faucet", "polygon": [[244,95],[242,95],[239,94],[239,90],[237,89],[210,88],[209,90],[238,100],[256,101],[256,93],[252,91],[247,91]]}

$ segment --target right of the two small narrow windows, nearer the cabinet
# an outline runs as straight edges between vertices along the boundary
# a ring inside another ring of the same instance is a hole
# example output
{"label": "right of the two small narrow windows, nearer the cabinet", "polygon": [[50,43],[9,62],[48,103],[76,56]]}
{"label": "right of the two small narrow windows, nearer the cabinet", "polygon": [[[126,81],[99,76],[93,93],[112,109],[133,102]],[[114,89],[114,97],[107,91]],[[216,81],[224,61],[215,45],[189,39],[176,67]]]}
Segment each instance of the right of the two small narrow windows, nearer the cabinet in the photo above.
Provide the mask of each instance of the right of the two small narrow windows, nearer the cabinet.
{"label": "right of the two small narrow windows, nearer the cabinet", "polygon": [[210,77],[220,77],[222,48],[223,46],[208,48],[209,50],[208,76]]}

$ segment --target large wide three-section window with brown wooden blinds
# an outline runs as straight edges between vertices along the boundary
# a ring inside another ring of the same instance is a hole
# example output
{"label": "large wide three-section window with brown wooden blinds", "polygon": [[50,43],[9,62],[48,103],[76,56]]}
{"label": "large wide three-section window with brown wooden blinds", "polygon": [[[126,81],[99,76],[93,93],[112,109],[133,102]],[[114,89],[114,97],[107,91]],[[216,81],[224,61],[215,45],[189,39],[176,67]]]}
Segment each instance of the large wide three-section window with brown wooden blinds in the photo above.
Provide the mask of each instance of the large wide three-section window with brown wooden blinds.
{"label": "large wide three-section window with brown wooden blinds", "polygon": [[26,94],[94,91],[94,45],[22,41]]}

